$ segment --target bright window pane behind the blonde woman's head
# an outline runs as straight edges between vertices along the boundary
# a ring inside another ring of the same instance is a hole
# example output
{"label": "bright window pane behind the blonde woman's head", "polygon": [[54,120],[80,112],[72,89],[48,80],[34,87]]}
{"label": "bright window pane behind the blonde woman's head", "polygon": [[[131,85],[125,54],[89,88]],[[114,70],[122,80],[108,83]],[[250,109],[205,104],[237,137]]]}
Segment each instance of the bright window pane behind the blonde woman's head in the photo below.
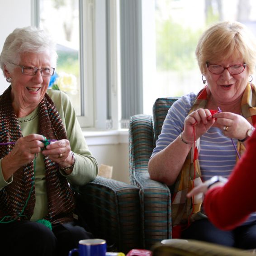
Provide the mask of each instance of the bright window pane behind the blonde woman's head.
{"label": "bright window pane behind the blonde woman's head", "polygon": [[239,21],[256,33],[255,0],[154,1],[155,85],[143,87],[144,114],[152,114],[152,105],[159,97],[197,93],[203,88],[194,52],[200,35],[210,24]]}

